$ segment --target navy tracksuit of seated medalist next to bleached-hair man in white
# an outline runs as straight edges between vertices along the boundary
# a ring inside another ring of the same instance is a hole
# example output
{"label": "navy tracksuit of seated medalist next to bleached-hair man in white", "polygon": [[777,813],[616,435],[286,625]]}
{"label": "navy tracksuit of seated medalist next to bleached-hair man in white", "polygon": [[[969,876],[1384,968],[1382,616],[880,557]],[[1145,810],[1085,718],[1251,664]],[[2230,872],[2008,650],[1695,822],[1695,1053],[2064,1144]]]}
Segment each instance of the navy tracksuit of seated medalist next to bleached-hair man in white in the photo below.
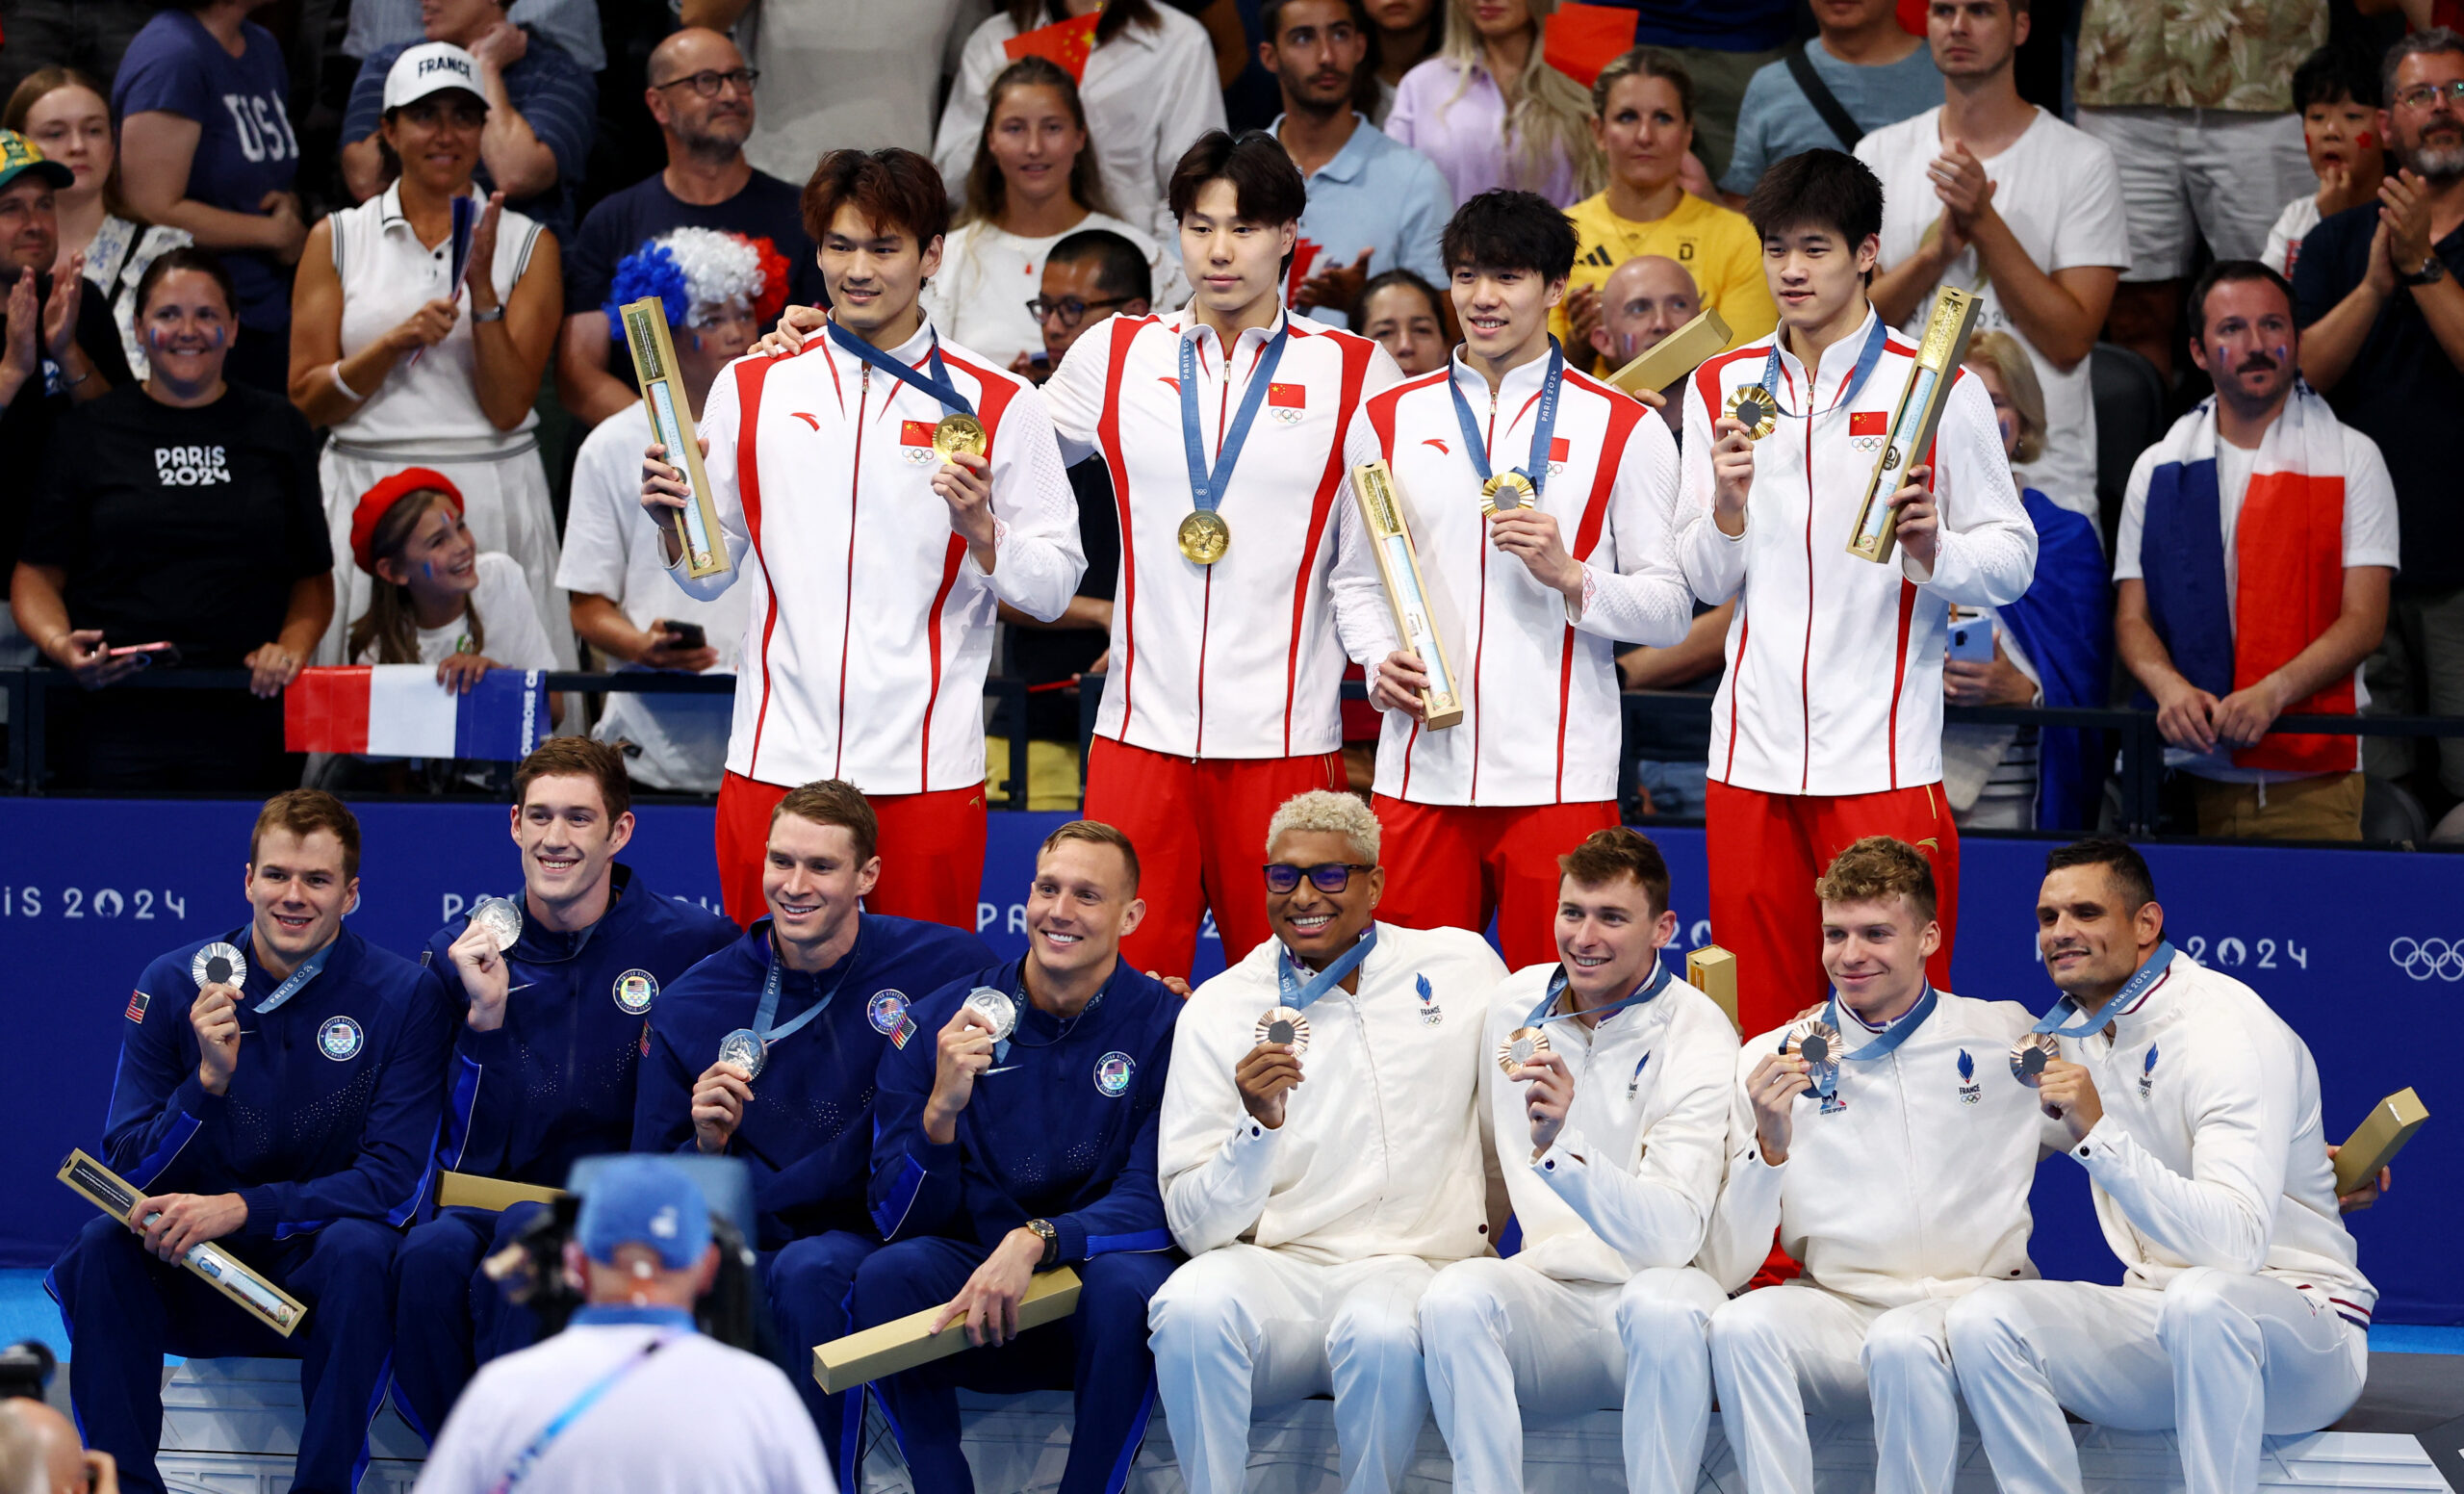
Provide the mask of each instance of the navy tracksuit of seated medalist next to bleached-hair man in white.
{"label": "navy tracksuit of seated medalist next to bleached-hair man in white", "polygon": [[[1079,1016],[1025,1003],[1020,961],[934,991],[914,1021],[926,1040],[882,1055],[872,1141],[872,1218],[890,1240],[855,1272],[855,1326],[941,1307],[1003,1235],[1050,1220],[1057,1265],[1084,1289],[1067,1321],[1000,1349],[971,1349],[875,1383],[917,1494],[971,1494],[956,1390],[1077,1388],[1062,1494],[1119,1494],[1156,1408],[1146,1302],[1180,1255],[1156,1188],[1156,1127],[1180,996],[1126,964]],[[934,1043],[973,986],[1020,1001],[1018,1031],[976,1077],[958,1134],[924,1137]]]}

